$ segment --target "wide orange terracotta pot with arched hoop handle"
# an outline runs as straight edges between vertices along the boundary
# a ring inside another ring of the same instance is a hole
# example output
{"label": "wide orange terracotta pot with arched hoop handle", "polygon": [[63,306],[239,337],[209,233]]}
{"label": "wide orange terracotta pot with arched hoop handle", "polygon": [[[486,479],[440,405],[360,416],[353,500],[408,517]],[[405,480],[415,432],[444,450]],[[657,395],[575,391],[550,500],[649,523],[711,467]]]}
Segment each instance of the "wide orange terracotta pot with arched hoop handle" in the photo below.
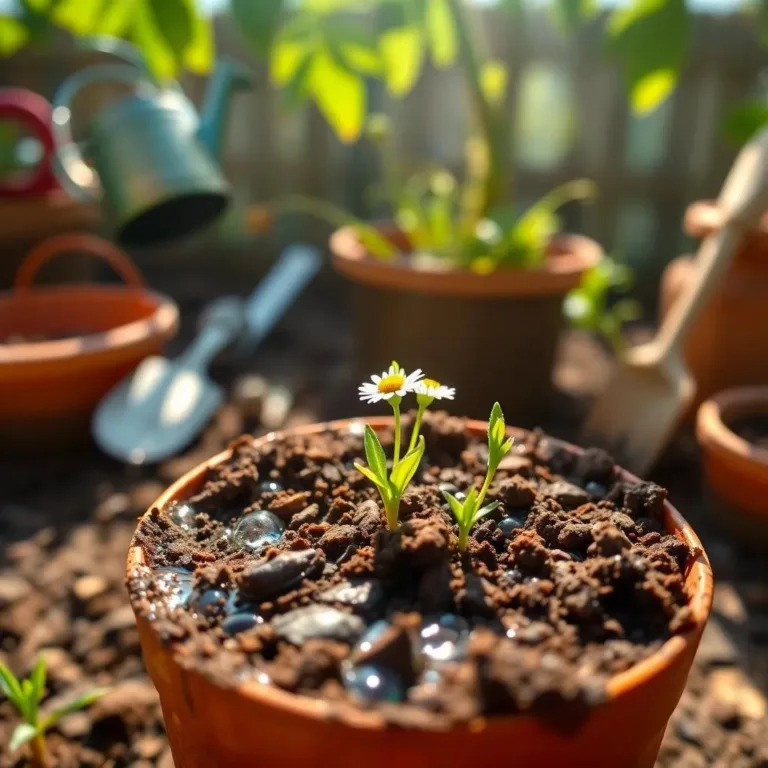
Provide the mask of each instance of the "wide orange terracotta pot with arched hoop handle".
{"label": "wide orange terracotta pot with arched hoop handle", "polygon": [[[125,286],[32,287],[65,252],[99,256]],[[178,309],[147,290],[122,251],[92,235],[61,235],[32,251],[0,294],[0,445],[58,447],[84,440],[101,398],[178,328]],[[43,336],[51,340],[25,341]],[[2,449],[0,449],[2,450]]]}

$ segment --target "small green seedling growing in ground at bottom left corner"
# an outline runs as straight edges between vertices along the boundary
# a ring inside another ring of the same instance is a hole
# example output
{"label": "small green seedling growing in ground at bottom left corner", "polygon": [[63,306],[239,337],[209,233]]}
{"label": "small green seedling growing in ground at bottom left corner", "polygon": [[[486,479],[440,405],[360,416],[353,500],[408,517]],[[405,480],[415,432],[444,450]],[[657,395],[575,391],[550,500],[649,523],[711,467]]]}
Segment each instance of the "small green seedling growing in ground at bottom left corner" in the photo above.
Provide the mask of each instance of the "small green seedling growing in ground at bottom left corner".
{"label": "small green seedling growing in ground at bottom left corner", "polygon": [[40,702],[45,695],[45,677],[45,659],[42,656],[26,680],[20,680],[8,667],[0,664],[0,691],[13,704],[22,719],[11,736],[9,747],[14,752],[29,744],[32,762],[39,768],[50,764],[45,747],[46,732],[66,715],[90,706],[107,692],[106,688],[95,688],[43,717]]}

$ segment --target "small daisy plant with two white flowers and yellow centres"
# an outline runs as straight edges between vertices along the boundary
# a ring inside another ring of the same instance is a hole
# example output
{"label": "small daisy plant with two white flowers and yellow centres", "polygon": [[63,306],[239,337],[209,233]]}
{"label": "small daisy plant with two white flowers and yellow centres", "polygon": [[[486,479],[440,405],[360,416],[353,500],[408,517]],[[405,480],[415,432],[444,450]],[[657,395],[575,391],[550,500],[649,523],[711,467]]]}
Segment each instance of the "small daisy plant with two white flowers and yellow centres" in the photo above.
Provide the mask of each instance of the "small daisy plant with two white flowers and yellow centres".
{"label": "small daisy plant with two white flowers and yellow centres", "polygon": [[[422,379],[422,376],[420,370],[406,374],[398,363],[393,362],[389,366],[389,370],[384,371],[381,376],[372,376],[371,381],[362,384],[359,390],[360,399],[366,402],[378,403],[380,400],[386,400],[392,407],[395,416],[392,471],[389,471],[387,457],[376,432],[368,424],[365,425],[365,457],[368,466],[355,464],[356,469],[378,489],[387,516],[387,526],[390,530],[397,528],[400,500],[403,498],[409,483],[413,480],[424,456],[424,438],[419,435],[424,411],[435,399],[453,399],[454,395],[452,388],[444,387],[432,379]],[[403,401],[403,397],[411,392],[416,393],[418,412],[411,433],[408,452],[401,459],[400,403]]]}

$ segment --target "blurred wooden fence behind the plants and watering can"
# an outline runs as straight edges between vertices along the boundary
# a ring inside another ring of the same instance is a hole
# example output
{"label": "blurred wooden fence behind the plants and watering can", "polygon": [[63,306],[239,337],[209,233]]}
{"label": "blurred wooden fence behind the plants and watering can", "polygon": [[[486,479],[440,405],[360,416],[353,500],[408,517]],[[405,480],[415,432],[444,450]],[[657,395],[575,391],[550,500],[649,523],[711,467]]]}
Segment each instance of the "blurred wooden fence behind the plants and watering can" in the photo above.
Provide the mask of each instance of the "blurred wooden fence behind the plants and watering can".
{"label": "blurred wooden fence behind the plants and watering can", "polygon": [[[734,154],[721,137],[722,118],[755,93],[768,63],[749,21],[697,17],[679,88],[661,108],[637,118],[620,71],[601,53],[598,28],[567,38],[543,17],[528,20],[522,30],[493,9],[477,13],[494,57],[510,73],[506,109],[518,198],[531,200],[571,178],[594,179],[599,201],[569,212],[569,226],[623,256],[640,282],[652,285],[684,247],[680,222],[687,203],[717,194]],[[249,60],[227,18],[218,18],[216,28],[221,52]],[[50,96],[88,60],[63,44],[51,52],[24,52],[0,62],[0,84]],[[370,213],[366,190],[377,176],[371,148],[339,144],[312,107],[286,111],[263,63],[252,63],[258,86],[237,98],[225,158],[239,200],[303,192]],[[199,103],[205,82],[187,77],[185,87]],[[93,94],[91,101],[102,96]],[[405,169],[439,163],[460,171],[469,120],[460,72],[428,67],[406,100],[393,103],[375,86],[370,98],[394,119]],[[293,222],[286,236],[325,235],[307,227]]]}

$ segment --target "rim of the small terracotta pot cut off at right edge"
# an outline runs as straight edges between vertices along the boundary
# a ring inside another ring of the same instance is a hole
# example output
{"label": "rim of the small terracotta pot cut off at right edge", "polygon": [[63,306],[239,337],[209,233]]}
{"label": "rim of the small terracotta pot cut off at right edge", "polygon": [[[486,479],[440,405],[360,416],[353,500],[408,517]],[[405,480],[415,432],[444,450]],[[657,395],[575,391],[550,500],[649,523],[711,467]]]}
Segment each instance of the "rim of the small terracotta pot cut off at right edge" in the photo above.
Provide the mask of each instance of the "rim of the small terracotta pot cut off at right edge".
{"label": "rim of the small terracotta pot cut off at right edge", "polygon": [[696,416],[699,444],[721,458],[768,469],[768,450],[739,437],[726,422],[736,416],[768,413],[768,387],[736,387],[702,403]]}

